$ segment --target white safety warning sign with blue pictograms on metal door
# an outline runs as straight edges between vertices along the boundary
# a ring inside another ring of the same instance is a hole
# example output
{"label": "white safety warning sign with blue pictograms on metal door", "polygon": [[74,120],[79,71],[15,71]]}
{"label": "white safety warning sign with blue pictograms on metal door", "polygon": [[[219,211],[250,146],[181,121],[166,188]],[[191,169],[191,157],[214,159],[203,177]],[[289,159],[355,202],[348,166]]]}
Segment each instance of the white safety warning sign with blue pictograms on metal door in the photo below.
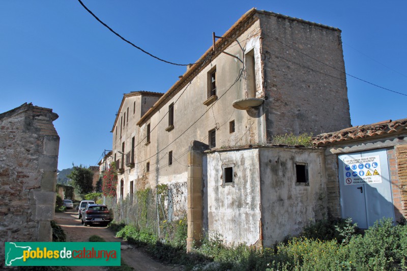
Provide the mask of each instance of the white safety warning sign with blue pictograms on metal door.
{"label": "white safety warning sign with blue pictograms on metal door", "polygon": [[345,186],[382,183],[380,158],[377,155],[344,159],[343,164]]}

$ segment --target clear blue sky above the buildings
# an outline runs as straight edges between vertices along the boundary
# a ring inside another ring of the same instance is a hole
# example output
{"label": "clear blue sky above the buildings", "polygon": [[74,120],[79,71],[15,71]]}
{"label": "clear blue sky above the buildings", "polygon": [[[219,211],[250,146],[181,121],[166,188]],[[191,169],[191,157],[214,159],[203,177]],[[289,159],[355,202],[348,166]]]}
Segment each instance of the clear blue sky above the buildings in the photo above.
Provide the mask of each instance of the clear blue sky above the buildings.
{"label": "clear blue sky above the buildings", "polygon": [[[253,7],[337,27],[352,125],[407,117],[405,0],[82,1],[135,45],[182,64]],[[111,149],[124,93],[164,93],[185,71],[125,43],[76,0],[0,0],[0,113],[25,102],[52,108],[60,170],[96,165]]]}

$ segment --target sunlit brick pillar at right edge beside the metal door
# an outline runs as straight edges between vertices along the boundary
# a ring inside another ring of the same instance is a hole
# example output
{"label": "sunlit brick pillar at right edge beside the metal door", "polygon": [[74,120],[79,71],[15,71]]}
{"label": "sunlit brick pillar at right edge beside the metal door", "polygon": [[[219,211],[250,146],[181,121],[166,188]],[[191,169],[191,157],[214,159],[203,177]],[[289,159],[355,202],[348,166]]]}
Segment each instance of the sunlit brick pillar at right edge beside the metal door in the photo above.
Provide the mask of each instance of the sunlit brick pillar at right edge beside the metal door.
{"label": "sunlit brick pillar at right edge beside the metal door", "polygon": [[407,144],[396,146],[393,155],[394,153],[395,157],[390,162],[392,185],[393,174],[396,175],[394,179],[397,179],[397,184],[395,183],[393,188],[394,208],[407,219]]}

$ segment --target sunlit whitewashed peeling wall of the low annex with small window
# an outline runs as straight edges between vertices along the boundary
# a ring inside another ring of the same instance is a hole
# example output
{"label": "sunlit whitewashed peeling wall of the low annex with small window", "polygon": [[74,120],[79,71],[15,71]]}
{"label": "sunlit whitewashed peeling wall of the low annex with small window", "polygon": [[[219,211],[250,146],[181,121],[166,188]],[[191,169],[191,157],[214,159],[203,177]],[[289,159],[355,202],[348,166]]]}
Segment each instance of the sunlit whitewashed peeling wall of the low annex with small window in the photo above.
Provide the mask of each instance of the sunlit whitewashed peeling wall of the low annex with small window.
{"label": "sunlit whitewashed peeling wall of the low annex with small window", "polygon": [[[228,245],[260,245],[260,184],[258,149],[207,153],[204,228]],[[234,165],[235,182],[223,183],[224,165]],[[207,205],[207,206],[206,206]]]}

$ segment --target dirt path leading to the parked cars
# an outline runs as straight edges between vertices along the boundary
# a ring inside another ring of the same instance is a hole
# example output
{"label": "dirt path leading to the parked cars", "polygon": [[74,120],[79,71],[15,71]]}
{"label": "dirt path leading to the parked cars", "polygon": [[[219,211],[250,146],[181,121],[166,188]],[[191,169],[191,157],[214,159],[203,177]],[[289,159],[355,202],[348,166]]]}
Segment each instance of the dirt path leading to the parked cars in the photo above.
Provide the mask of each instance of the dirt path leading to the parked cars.
{"label": "dirt path leading to the parked cars", "polygon": [[[135,270],[180,270],[180,267],[162,264],[153,260],[149,255],[141,252],[138,249],[132,248],[127,242],[121,238],[114,236],[113,232],[107,227],[101,226],[83,226],[78,219],[77,210],[67,210],[65,213],[55,213],[55,222],[59,224],[67,235],[67,242],[89,242],[89,237],[99,235],[106,242],[121,242],[122,259]],[[88,271],[88,270],[106,270],[103,266],[72,266],[72,270]]]}

